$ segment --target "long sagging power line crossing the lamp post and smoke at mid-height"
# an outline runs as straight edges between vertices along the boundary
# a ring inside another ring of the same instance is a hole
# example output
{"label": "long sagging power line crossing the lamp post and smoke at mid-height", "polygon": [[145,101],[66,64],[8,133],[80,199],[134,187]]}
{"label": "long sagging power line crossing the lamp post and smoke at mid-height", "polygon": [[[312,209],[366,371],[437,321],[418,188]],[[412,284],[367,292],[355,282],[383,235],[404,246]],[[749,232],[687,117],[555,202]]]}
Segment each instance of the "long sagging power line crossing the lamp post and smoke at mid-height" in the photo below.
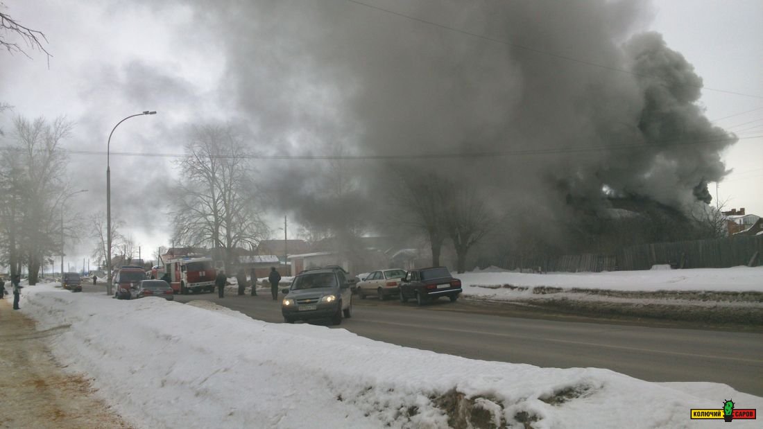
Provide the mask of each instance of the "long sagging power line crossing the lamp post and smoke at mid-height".
{"label": "long sagging power line crossing the lamp post and smoke at mid-height", "polygon": [[[488,151],[488,152],[465,152],[465,153],[417,153],[401,155],[262,155],[262,154],[242,154],[242,155],[203,155],[201,158],[243,158],[243,159],[273,159],[273,160],[395,160],[395,159],[422,159],[422,158],[491,158],[496,156],[522,156],[522,155],[555,155],[564,153],[597,152],[604,150],[619,149],[670,149],[674,146],[690,146],[714,142],[735,142],[738,139],[757,139],[763,137],[745,136],[745,137],[726,137],[718,139],[702,140],[662,140],[651,143],[629,143],[623,145],[610,146],[588,146],[575,148],[548,148],[548,149],[517,149],[506,151]],[[0,146],[0,149],[22,151],[24,149],[11,146]],[[62,149],[61,152],[72,155],[106,155],[104,151],[94,150],[72,150]],[[152,152],[111,152],[114,156],[142,156],[149,158],[188,158],[194,155],[178,153],[152,153]]]}

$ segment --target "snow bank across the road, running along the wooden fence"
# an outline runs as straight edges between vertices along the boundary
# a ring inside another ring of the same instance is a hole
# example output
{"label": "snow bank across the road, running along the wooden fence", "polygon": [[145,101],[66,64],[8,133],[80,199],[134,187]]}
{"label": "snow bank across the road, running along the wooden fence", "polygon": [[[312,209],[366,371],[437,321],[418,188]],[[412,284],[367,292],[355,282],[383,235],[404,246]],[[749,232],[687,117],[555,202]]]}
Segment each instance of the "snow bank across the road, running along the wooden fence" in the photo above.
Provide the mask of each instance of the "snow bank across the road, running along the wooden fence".
{"label": "snow bank across the road, running along the wooden fence", "polygon": [[620,292],[665,290],[763,293],[763,267],[548,274],[516,273],[491,267],[485,271],[472,271],[455,277],[461,279],[465,296],[498,300],[533,296],[533,288],[560,288],[565,292],[582,289]]}

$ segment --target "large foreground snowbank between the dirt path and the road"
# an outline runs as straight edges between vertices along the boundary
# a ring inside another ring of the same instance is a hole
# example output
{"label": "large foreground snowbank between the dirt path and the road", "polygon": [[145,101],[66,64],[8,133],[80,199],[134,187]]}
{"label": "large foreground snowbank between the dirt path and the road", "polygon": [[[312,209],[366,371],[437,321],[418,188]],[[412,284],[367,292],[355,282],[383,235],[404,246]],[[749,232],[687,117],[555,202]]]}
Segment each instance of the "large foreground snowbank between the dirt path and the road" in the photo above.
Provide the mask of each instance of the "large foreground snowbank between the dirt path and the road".
{"label": "large foreground snowbank between the dirt path and the road", "polygon": [[763,408],[721,384],[469,360],[195,303],[38,285],[21,311],[137,427],[717,427],[690,409]]}

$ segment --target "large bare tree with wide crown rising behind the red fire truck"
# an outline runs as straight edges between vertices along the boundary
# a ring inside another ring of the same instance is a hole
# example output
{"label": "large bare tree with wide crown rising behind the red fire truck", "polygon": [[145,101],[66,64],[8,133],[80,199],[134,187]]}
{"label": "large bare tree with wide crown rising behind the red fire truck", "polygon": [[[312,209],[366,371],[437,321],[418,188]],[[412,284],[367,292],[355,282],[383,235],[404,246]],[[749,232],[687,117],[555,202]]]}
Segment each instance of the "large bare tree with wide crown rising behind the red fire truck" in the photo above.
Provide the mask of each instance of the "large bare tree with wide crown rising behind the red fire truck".
{"label": "large bare tree with wide crown rising behind the red fire truck", "polygon": [[182,179],[172,194],[175,240],[222,251],[227,263],[238,246],[268,236],[243,141],[230,125],[196,127],[179,161]]}

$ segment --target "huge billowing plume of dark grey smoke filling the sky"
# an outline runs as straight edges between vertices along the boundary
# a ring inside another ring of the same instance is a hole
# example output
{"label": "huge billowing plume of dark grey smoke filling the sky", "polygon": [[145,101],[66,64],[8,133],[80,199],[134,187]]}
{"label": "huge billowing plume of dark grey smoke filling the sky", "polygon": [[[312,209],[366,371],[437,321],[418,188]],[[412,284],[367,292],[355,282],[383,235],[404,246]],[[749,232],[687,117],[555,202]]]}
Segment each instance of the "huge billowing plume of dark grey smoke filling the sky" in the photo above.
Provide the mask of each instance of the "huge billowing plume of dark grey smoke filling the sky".
{"label": "huge billowing plume of dark grey smoke filling the sky", "polygon": [[[707,183],[726,174],[720,153],[735,139],[697,104],[702,79],[660,34],[634,34],[649,2],[365,2],[198,3],[254,152],[459,155],[406,165],[549,220],[613,196],[685,210],[709,203]],[[339,221],[318,172],[344,168],[362,207],[392,171],[380,160],[258,166],[279,207],[323,226]]]}

